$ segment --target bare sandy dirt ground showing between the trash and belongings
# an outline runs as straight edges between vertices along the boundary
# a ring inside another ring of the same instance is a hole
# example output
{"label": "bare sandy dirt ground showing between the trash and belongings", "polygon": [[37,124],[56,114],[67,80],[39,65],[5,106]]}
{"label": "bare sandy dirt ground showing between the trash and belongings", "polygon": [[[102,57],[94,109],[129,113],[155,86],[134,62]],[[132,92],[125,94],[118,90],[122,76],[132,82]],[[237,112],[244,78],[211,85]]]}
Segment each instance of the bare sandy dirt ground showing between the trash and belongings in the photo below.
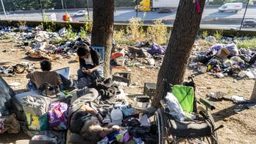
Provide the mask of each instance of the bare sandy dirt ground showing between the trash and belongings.
{"label": "bare sandy dirt ground showing between the trash and belongings", "polygon": [[[33,62],[38,65],[40,60],[35,60],[27,57],[24,48],[16,47],[17,43],[0,43],[0,61],[11,61],[7,65],[15,65],[19,62]],[[4,50],[10,50],[3,52]],[[62,59],[52,62],[53,70],[58,68],[64,68],[66,66],[71,67],[71,75],[77,73],[79,63],[74,62],[74,57],[70,59]],[[132,73],[132,83],[137,83],[125,88],[125,92],[129,94],[141,94],[143,93],[144,82],[157,82],[157,69],[145,68],[140,69],[136,67],[129,67]],[[194,73],[191,70],[186,72],[186,76]],[[170,73],[171,74],[171,73]],[[14,90],[25,89],[27,82],[26,72],[21,74],[1,75],[7,81],[7,83],[20,82],[21,84],[13,87]],[[252,88],[254,80],[241,79],[234,82],[232,77],[224,77],[224,79],[218,79],[216,76],[203,73],[194,78],[197,88],[197,98],[206,98],[206,95],[210,92],[223,91],[230,93],[231,96],[243,96],[249,98],[252,94]],[[207,98],[209,99],[209,98]],[[218,142],[221,144],[226,143],[255,143],[256,141],[256,111],[254,109],[246,109],[237,104],[233,104],[232,101],[212,101],[216,105],[216,109],[211,111],[216,126],[224,125],[223,129],[218,130]],[[0,134],[0,143],[13,143],[15,140],[29,139],[23,132],[20,134]]]}

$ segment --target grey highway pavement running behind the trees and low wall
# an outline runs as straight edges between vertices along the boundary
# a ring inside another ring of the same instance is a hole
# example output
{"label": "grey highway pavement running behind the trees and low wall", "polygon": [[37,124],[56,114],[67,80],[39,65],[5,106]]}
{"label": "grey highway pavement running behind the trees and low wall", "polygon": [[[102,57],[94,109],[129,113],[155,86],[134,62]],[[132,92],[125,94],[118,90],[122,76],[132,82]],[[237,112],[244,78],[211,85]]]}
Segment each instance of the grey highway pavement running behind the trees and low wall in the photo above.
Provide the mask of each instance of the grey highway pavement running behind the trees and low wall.
{"label": "grey highway pavement running behind the trees and low wall", "polygon": [[[202,21],[211,21],[211,20],[229,20],[230,18],[243,18],[244,8],[241,11],[235,12],[218,12],[218,7],[205,7],[205,10],[202,15]],[[51,21],[50,15],[55,13],[57,21],[63,21],[63,15],[65,12],[68,12],[73,18],[74,21],[85,21],[85,16],[72,16],[74,12],[77,10],[56,10],[55,12],[47,12],[46,15],[49,21]],[[176,16],[176,10],[171,13],[158,13],[158,12],[138,12],[138,18],[141,18],[143,21],[152,21],[156,19],[161,20],[174,20]],[[92,10],[90,10],[90,19],[92,19]],[[4,15],[0,15],[1,19],[5,19]],[[136,12],[134,9],[117,9],[114,13],[114,20],[115,21],[128,21],[130,18],[136,18]],[[246,11],[245,18],[254,18],[256,19],[256,7],[249,7]],[[17,13],[7,15],[8,20],[18,20],[18,21],[42,21],[42,14],[40,12],[24,12],[24,13]],[[216,27],[221,27],[225,21],[221,22],[221,24],[214,23],[213,25]],[[228,24],[229,22],[227,22]],[[232,21],[232,24],[229,24],[231,27],[232,25],[239,25],[241,21]],[[207,24],[210,24],[208,22]],[[237,27],[236,26],[236,27]],[[252,28],[254,29],[254,28]],[[256,29],[256,28],[255,28]]]}

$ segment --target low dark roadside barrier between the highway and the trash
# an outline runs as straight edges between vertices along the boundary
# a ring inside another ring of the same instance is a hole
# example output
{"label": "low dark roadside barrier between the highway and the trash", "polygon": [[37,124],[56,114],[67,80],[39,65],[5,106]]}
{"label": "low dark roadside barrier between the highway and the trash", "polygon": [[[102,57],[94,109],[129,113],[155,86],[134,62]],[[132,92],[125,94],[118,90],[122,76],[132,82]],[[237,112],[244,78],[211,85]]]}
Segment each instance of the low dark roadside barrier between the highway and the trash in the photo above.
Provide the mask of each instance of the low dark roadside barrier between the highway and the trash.
{"label": "low dark roadside barrier between the highway and the trash", "polygon": [[[54,22],[54,21],[53,21]],[[0,21],[1,26],[21,26],[21,24],[24,24],[26,26],[35,27],[40,24],[42,24],[42,21]],[[48,24],[51,24],[51,21],[48,22]],[[63,27],[68,27],[70,24],[73,29],[80,29],[81,27],[85,26],[84,22],[54,22],[56,29],[62,29]],[[126,29],[127,25],[129,24],[114,24],[114,29],[120,30],[120,29]],[[150,24],[143,25],[143,29],[147,29],[148,26],[152,26]],[[166,26],[168,30],[172,29],[172,26]],[[236,29],[210,29],[210,28],[201,28],[200,31],[207,32],[216,32],[216,30],[221,30],[223,32],[224,36],[236,36],[236,37],[242,37],[242,36],[249,36],[249,37],[256,37],[256,31],[249,31],[249,30],[236,30]]]}

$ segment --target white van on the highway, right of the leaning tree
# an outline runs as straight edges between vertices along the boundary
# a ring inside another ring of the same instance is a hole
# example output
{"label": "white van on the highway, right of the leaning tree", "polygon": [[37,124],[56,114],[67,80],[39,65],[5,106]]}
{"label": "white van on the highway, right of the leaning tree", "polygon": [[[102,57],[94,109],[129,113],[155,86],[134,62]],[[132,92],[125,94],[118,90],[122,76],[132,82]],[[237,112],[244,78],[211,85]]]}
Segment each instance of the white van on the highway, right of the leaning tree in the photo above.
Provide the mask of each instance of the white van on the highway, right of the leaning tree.
{"label": "white van on the highway, right of the leaning tree", "polygon": [[226,12],[226,11],[234,11],[238,12],[238,10],[242,10],[243,4],[241,2],[236,3],[226,3],[223,4],[221,7],[218,7],[219,12]]}

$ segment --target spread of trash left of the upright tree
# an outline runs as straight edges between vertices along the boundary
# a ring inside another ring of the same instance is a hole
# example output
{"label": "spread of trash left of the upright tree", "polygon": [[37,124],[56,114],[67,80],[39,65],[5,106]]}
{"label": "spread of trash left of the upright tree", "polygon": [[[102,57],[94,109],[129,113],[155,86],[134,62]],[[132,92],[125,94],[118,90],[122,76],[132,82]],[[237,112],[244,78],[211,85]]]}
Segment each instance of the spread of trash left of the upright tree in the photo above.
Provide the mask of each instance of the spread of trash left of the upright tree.
{"label": "spread of trash left of the upright tree", "polygon": [[[46,32],[41,30],[40,26],[36,28],[29,26],[7,27],[0,31],[1,40],[18,40],[20,42],[18,47],[28,51],[29,57],[45,58],[47,60],[74,57],[76,45],[85,41],[88,43],[87,38],[82,39],[78,35],[67,38],[65,35],[68,35],[65,27],[60,29],[59,32]],[[4,52],[8,51],[7,49],[4,50]]]}

